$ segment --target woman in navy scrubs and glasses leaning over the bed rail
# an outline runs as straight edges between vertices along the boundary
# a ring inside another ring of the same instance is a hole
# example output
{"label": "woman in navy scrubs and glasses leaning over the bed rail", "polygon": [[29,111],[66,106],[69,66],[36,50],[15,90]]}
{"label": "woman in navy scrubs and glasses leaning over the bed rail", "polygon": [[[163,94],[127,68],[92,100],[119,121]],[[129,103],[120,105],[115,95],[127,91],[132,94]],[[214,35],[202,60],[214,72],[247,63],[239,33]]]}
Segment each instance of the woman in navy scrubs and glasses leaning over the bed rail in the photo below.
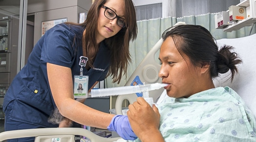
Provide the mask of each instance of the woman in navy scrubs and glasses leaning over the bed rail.
{"label": "woman in navy scrubs and glasses leaning over the bed rail", "polygon": [[[92,109],[73,94],[74,76],[81,73],[88,76],[88,92],[107,76],[119,83],[130,61],[129,41],[136,36],[132,0],[95,0],[84,23],[61,23],[46,31],[6,92],[5,131],[77,122],[136,139],[126,116]],[[48,122],[56,109],[64,117],[60,124]],[[34,142],[34,138],[8,142]]]}

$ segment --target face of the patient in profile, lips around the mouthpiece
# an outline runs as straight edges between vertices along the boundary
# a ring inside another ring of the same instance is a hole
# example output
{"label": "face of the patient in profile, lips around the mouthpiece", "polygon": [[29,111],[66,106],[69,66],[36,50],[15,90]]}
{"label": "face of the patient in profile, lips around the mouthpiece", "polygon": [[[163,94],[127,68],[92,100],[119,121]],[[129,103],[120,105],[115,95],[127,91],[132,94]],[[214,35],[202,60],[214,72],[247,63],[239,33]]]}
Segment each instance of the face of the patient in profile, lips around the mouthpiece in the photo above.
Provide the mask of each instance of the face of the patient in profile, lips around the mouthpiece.
{"label": "face of the patient in profile, lips around the mouthpiece", "polygon": [[163,83],[169,84],[165,87],[169,97],[187,98],[197,93],[200,88],[198,82],[200,67],[193,66],[186,55],[184,58],[172,38],[168,37],[160,48],[159,60],[162,66],[159,77],[162,78]]}

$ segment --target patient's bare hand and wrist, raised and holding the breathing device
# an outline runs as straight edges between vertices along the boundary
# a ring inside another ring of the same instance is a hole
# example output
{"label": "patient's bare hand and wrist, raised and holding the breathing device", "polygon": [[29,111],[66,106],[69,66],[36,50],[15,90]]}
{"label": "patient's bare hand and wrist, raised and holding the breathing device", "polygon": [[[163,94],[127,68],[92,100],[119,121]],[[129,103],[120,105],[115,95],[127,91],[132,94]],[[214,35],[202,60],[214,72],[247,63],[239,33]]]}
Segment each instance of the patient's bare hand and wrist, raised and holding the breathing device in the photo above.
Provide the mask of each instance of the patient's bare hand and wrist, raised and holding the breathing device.
{"label": "patient's bare hand and wrist, raised and holding the breathing device", "polygon": [[155,105],[151,107],[147,101],[138,97],[128,108],[132,130],[142,142],[164,142],[159,131],[160,114]]}

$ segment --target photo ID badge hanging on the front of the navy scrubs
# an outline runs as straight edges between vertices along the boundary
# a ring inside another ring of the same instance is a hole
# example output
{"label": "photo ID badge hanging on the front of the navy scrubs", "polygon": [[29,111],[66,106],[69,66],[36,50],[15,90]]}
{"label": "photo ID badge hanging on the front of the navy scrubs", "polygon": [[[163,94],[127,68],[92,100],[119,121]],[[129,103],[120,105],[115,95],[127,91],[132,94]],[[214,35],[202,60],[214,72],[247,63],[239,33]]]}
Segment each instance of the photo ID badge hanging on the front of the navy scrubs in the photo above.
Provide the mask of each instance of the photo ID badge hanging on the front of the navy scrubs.
{"label": "photo ID badge hanging on the front of the navy scrubs", "polygon": [[88,97],[88,76],[74,76],[74,97]]}

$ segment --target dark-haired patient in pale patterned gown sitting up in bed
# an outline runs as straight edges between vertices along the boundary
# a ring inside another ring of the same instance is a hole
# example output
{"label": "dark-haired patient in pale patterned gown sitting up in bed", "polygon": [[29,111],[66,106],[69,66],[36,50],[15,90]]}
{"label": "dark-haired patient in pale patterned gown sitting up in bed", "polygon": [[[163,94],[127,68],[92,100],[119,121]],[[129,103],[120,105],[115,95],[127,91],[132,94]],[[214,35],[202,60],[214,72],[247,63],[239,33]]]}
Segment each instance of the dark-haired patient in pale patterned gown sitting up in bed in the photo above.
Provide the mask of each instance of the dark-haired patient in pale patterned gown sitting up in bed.
{"label": "dark-haired patient in pale patterned gown sitting up in bed", "polygon": [[[242,62],[233,47],[218,49],[199,25],[178,25],[162,35],[159,77],[167,95],[152,108],[138,98],[127,112],[136,142],[256,142],[256,120],[230,87],[213,78],[230,72],[233,81]],[[161,117],[160,117],[161,116]]]}

